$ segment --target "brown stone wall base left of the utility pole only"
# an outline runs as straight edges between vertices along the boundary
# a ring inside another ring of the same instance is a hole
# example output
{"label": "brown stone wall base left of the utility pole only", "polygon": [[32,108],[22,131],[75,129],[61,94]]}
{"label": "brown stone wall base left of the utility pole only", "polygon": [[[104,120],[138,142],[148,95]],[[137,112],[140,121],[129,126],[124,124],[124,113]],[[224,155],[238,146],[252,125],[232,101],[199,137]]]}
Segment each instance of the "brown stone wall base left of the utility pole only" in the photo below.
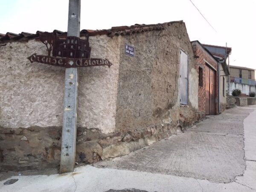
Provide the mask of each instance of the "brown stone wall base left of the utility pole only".
{"label": "brown stone wall base left of the utility pole only", "polygon": [[61,127],[0,128],[0,172],[59,164]]}

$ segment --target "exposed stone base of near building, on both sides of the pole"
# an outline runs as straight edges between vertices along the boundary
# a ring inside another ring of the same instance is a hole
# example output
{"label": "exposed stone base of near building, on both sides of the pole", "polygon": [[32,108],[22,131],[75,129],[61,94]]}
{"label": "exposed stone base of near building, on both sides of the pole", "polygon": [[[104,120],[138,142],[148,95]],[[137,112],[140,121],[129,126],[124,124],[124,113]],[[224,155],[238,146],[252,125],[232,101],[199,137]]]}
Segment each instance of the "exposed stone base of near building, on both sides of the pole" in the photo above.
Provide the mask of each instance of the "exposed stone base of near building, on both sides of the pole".
{"label": "exposed stone base of near building, on both sides of the pole", "polygon": [[[203,119],[204,114],[175,123],[145,129],[102,134],[99,129],[77,129],[76,162],[95,163],[151,145],[177,134]],[[58,166],[61,127],[0,128],[0,172],[45,169]]]}

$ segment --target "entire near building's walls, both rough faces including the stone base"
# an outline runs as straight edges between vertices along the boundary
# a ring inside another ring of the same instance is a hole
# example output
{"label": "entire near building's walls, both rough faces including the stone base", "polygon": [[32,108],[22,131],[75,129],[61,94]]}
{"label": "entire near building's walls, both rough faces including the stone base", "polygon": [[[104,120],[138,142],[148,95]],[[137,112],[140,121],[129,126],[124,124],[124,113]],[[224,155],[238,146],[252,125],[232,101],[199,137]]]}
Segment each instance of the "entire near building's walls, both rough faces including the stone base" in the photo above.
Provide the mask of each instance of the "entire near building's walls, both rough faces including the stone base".
{"label": "entire near building's walls, both rough faces including the stone base", "polygon": [[[92,58],[113,65],[80,70],[77,162],[128,154],[200,118],[183,21],[94,31],[89,42]],[[180,50],[188,55],[188,105],[180,105]],[[64,69],[31,64],[33,53],[47,54],[37,37],[0,42],[0,171],[59,165]]]}

